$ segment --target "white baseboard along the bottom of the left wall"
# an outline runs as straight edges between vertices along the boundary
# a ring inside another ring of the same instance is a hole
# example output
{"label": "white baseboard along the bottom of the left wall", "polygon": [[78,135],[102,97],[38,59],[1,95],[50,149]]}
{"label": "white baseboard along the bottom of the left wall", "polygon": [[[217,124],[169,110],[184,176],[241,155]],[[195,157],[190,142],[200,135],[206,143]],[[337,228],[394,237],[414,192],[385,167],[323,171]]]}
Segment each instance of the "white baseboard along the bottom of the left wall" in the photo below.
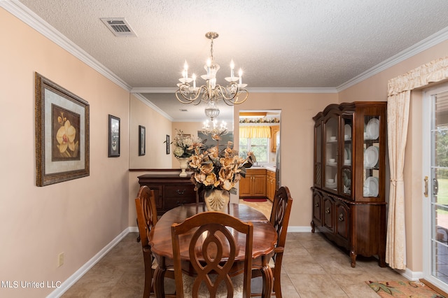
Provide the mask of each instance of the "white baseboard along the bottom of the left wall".
{"label": "white baseboard along the bottom of the left wall", "polygon": [[80,269],[78,269],[74,274],[72,274],[69,278],[67,278],[66,281],[64,281],[64,283],[61,283],[61,286],[56,290],[52,291],[50,295],[48,295],[47,297],[50,298],[61,297],[62,294],[64,294],[66,290],[69,290],[69,288],[74,283],[76,283],[76,281],[78,281],[79,278],[81,278],[84,274],[86,274],[87,271],[89,271],[94,266],[94,264],[97,264],[97,262],[101,260],[102,257],[104,257],[104,255],[109,253],[109,250],[111,250],[114,246],[116,246],[117,243],[119,243],[123,238],[125,238],[127,234],[132,232],[130,231],[132,228],[134,227],[127,227],[123,232],[121,232],[118,236],[116,236],[115,239],[113,239],[109,244],[104,246],[102,250],[99,250],[99,252],[96,255],[94,255],[92,259],[88,260],[87,263],[85,263],[82,267],[80,267]]}

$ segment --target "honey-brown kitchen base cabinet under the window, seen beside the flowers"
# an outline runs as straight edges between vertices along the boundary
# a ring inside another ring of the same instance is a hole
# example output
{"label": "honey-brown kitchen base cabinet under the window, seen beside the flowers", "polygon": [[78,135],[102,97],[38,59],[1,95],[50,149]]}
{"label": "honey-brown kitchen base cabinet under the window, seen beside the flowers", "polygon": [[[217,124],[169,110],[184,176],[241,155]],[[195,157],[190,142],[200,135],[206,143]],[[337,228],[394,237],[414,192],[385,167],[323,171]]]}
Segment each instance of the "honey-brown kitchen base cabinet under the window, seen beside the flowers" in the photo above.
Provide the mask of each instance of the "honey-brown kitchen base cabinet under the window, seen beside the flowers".
{"label": "honey-brown kitchen base cabinet under the window, seen beside the flowers", "polygon": [[266,197],[266,169],[247,169],[239,180],[239,197]]}

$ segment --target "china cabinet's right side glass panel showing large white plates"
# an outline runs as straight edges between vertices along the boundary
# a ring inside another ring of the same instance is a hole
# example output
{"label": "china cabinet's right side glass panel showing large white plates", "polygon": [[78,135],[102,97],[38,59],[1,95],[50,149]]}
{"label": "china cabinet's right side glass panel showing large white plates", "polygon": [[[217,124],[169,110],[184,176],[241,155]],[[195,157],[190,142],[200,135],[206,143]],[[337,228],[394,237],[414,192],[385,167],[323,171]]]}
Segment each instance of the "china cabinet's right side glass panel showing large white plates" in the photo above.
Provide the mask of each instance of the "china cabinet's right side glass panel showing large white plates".
{"label": "china cabinet's right side glass panel showing large white plates", "polygon": [[364,116],[363,197],[379,194],[379,115]]}

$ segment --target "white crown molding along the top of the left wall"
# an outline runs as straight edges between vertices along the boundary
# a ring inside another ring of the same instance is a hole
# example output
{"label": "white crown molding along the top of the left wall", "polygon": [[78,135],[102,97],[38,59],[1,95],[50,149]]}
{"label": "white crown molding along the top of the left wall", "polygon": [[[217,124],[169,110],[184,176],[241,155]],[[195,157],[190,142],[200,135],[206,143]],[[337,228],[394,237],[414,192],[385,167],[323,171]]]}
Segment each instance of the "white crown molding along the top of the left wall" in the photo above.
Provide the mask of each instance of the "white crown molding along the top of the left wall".
{"label": "white crown molding along the top of the left wall", "polygon": [[83,49],[79,48],[78,45],[73,43],[69,38],[62,35],[59,31],[53,28],[48,22],[45,22],[41,17],[36,15],[27,6],[20,3],[18,0],[8,0],[0,1],[0,7],[5,8],[9,13],[18,17],[19,20],[28,24],[31,28],[35,29],[41,33],[50,41],[56,43],[61,48],[71,53],[71,55],[80,59],[82,62],[92,67],[92,69],[98,71],[103,76],[116,83],[118,86],[127,90],[131,90],[131,86],[125,83],[121,78],[118,78],[115,73],[107,69],[103,64],[99,63],[94,57],[90,56]]}

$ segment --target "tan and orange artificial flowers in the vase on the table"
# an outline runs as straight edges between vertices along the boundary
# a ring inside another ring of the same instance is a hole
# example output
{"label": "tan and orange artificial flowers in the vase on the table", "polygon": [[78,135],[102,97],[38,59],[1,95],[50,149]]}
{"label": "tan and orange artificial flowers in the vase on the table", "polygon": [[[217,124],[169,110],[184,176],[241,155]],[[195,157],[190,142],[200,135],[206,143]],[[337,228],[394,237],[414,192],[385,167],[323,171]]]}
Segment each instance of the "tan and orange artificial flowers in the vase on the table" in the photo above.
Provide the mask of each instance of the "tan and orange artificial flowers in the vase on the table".
{"label": "tan and orange artificial flowers in the vase on the table", "polygon": [[202,143],[193,143],[195,154],[188,159],[188,167],[193,171],[191,181],[195,190],[228,190],[236,194],[235,184],[246,176],[246,168],[255,162],[255,155],[248,152],[246,159],[239,157],[233,150],[233,143],[228,142],[227,148],[219,150],[219,146],[205,148]]}

